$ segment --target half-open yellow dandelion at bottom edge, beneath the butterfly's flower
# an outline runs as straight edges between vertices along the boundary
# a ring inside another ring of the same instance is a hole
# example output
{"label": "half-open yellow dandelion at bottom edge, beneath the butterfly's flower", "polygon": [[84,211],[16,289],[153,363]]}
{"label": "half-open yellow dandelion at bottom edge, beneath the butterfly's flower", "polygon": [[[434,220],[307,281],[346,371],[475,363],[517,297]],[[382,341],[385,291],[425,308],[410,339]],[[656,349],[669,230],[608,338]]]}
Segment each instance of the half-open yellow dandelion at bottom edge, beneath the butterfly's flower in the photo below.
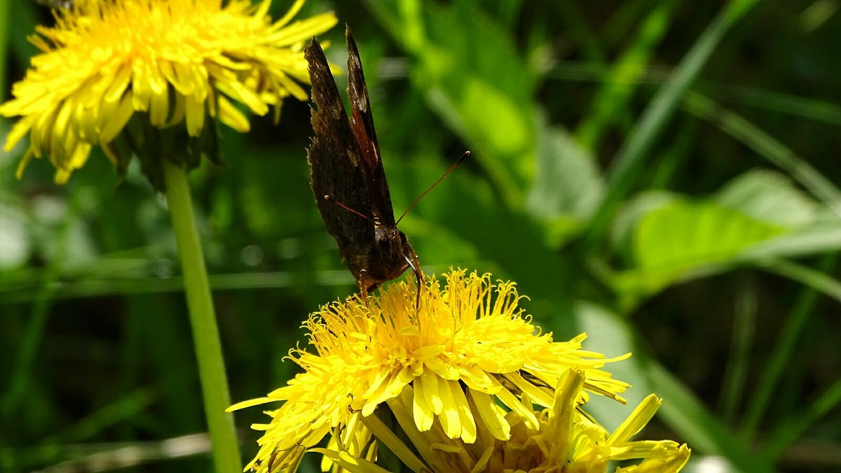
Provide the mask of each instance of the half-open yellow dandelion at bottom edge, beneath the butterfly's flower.
{"label": "half-open yellow dandelion at bottom edge, beneath the butterfly's flower", "polygon": [[[642,461],[638,465],[616,468],[616,473],[674,473],[684,467],[690,456],[690,449],[685,444],[671,440],[631,440],[657,412],[662,402],[658,397],[646,397],[610,434],[582,409],[580,392],[585,382],[583,371],[577,368],[564,371],[558,379],[553,405],[534,413],[537,428],[527,426],[520,415],[510,412],[505,414],[511,427],[509,439],[496,439],[480,424],[479,435],[473,443],[451,439],[437,421],[429,431],[421,432],[407,408],[415,396],[407,387],[398,398],[389,400],[389,407],[414,449],[395,436],[389,436],[389,429],[375,418],[365,423],[376,437],[373,442],[361,444],[367,451],[362,451],[356,442],[346,443],[341,449],[340,443],[335,441],[326,449],[312,451],[324,455],[322,470],[332,467],[334,473],[382,473],[383,468],[375,463],[379,442],[394,451],[410,470],[435,473],[604,473],[611,462],[627,464],[631,460]],[[476,408],[473,404],[470,407]],[[365,429],[359,430],[357,439],[371,436]]]}

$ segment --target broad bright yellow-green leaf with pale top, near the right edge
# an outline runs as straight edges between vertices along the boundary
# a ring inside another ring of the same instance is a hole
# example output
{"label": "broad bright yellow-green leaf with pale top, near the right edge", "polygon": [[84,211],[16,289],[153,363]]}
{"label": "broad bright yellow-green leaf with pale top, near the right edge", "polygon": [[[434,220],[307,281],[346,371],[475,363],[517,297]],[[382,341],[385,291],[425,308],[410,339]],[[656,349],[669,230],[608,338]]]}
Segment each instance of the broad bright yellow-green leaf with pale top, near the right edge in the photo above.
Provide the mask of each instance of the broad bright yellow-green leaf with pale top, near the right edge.
{"label": "broad bright yellow-green leaf with pale top, near the right edge", "polygon": [[706,200],[643,193],[617,218],[614,244],[634,269],[613,282],[626,295],[650,294],[745,260],[838,247],[838,225],[829,220],[818,231],[816,208],[787,177],[765,170],[738,176]]}

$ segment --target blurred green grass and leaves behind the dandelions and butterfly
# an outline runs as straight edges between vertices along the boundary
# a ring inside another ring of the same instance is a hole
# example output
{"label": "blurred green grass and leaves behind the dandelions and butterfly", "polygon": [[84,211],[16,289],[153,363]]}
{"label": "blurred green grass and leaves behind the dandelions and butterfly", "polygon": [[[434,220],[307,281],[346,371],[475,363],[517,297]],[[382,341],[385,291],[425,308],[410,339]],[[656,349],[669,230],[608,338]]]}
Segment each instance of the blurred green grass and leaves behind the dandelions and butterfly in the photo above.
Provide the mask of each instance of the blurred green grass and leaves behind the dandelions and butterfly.
{"label": "blurred green grass and leaves behind the dandelions and butterfly", "polygon": [[[0,6],[8,97],[52,20]],[[611,365],[630,405],[590,404],[607,428],[656,392],[643,438],[689,443],[688,471],[837,471],[839,8],[310,0],[300,16],[353,29],[395,212],[473,153],[400,223],[424,270],[517,281],[557,339],[633,352]],[[343,33],[322,39],[344,68]],[[251,124],[223,130],[225,167],[192,174],[235,401],[293,376],[299,323],[355,289],[309,190],[309,106]],[[17,180],[22,151],[0,154],[0,470],[207,470],[165,201],[99,152],[66,186],[46,160]],[[251,458],[266,417],[235,419]]]}

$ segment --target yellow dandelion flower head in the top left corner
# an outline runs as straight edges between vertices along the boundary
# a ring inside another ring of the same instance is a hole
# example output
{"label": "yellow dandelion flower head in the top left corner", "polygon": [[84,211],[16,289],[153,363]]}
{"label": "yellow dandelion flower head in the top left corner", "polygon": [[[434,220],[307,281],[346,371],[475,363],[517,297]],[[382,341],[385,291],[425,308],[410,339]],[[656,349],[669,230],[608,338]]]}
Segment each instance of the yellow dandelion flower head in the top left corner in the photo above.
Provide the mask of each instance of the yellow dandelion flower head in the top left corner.
{"label": "yellow dandelion flower head in the top left corner", "polygon": [[[33,156],[47,155],[56,181],[65,182],[94,145],[102,145],[120,170],[137,153],[150,176],[161,149],[177,160],[167,145],[183,142],[156,130],[180,124],[183,138],[195,142],[182,151],[183,160],[196,166],[197,152],[214,155],[207,145],[215,144],[210,119],[248,130],[236,103],[262,115],[271,106],[279,113],[289,95],[306,100],[304,40],[331,28],[336,17],[290,23],[304,3],[297,0],[272,23],[270,3],[77,0],[59,10],[54,28],[39,27],[30,38],[42,52],[14,85],[13,99],[0,106],[0,114],[21,117],[5,150],[29,134],[19,176]],[[145,155],[144,145],[159,152]],[[156,177],[150,176],[153,183]]]}

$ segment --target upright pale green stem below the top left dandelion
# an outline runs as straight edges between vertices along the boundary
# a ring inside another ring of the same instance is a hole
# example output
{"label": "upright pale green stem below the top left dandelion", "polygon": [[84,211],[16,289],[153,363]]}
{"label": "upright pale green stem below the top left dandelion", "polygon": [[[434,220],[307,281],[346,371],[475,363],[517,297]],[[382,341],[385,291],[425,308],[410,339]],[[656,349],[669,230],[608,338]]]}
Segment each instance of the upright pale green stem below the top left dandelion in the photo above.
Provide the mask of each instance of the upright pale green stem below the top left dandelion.
{"label": "upright pale green stem below the top left dandelion", "polygon": [[181,258],[190,325],[193,327],[193,344],[198,359],[198,377],[202,383],[204,415],[213,444],[214,465],[216,471],[240,471],[242,465],[234,418],[230,413],[225,413],[225,408],[230,406],[228,379],[225,376],[225,361],[222,358],[222,344],[216,327],[204,255],[198,243],[187,171],[169,160],[163,161],[167,202]]}

